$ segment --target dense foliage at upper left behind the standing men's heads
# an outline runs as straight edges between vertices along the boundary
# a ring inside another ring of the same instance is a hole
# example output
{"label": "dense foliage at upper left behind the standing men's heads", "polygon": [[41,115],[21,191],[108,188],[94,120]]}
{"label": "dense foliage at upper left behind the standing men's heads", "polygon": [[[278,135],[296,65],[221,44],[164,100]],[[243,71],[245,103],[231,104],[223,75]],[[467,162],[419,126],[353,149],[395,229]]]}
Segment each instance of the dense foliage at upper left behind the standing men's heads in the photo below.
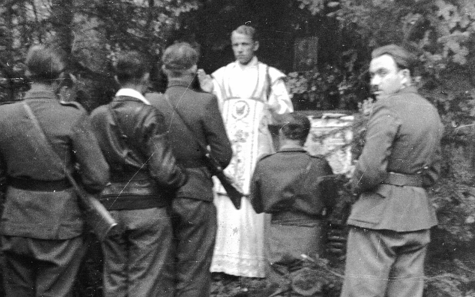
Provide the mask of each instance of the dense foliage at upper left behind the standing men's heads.
{"label": "dense foliage at upper left behind the standing men's heads", "polygon": [[[11,0],[0,7],[2,100],[21,91],[29,46],[52,44],[69,58],[69,71],[87,92],[79,98],[91,110],[110,100],[115,85],[112,63],[117,52],[134,50],[158,62],[184,12],[194,0]],[[19,87],[19,88],[15,88]],[[87,94],[89,94],[89,97]]]}

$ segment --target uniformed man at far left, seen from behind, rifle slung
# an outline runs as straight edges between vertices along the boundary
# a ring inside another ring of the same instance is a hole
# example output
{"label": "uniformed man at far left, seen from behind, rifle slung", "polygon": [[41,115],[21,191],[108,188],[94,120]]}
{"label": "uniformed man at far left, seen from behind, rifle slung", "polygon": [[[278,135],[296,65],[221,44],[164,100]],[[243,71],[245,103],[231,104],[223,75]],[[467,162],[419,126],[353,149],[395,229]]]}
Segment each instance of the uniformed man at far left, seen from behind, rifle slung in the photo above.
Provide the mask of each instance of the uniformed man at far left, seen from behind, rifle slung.
{"label": "uniformed man at far left, seen from behind, rifle slung", "polygon": [[85,247],[78,199],[65,170],[77,163],[85,190],[97,193],[109,167],[85,110],[58,100],[61,57],[33,46],[25,64],[31,88],[24,103],[0,107],[0,177],[7,187],[0,222],[4,286],[8,297],[67,296]]}

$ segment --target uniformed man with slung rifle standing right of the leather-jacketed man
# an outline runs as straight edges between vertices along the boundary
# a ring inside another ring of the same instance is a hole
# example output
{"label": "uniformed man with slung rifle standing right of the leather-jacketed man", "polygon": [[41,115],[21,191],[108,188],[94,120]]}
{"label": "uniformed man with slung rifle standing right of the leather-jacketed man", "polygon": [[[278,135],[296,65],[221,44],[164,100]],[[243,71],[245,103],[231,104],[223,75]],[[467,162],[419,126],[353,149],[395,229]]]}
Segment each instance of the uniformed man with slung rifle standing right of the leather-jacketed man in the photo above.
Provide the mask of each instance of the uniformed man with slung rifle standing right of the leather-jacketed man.
{"label": "uniformed man with slung rifle standing right of the leather-jacketed man", "polygon": [[225,168],[231,159],[231,144],[216,97],[189,88],[197,72],[197,51],[187,43],[177,43],[165,50],[162,62],[168,88],[165,95],[147,98],[164,114],[173,153],[189,176],[176,192],[170,210],[175,236],[175,296],[206,297],[210,295],[217,224],[204,148],[208,146]]}

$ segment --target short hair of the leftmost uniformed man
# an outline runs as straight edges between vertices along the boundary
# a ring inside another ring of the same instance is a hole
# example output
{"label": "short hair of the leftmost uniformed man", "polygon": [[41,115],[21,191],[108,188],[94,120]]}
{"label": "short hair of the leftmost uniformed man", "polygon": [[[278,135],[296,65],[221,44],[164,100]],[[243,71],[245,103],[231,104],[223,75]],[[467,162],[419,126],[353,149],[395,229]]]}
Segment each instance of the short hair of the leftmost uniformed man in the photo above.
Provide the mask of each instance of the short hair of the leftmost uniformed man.
{"label": "short hair of the leftmost uniformed man", "polygon": [[26,76],[34,82],[51,84],[66,65],[62,55],[44,45],[33,45],[26,54]]}

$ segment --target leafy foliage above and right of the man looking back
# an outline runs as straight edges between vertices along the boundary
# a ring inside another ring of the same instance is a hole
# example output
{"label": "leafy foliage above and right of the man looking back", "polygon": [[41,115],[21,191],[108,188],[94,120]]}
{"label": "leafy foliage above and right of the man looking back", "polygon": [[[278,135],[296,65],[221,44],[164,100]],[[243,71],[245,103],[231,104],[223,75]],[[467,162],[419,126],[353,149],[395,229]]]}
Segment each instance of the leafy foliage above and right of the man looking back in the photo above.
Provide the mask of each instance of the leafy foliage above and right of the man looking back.
{"label": "leafy foliage above and right of the man looking back", "polygon": [[[431,190],[439,226],[433,230],[428,259],[428,296],[473,296],[470,262],[474,236],[475,179],[473,84],[475,3],[444,0],[301,0],[314,15],[338,20],[343,40],[340,63],[290,73],[294,95],[335,108],[361,106],[368,97],[367,65],[371,48],[404,43],[416,50],[420,68],[415,83],[438,108],[445,124],[443,172]],[[324,98],[323,100],[321,98]],[[325,102],[326,100],[326,102]]]}

